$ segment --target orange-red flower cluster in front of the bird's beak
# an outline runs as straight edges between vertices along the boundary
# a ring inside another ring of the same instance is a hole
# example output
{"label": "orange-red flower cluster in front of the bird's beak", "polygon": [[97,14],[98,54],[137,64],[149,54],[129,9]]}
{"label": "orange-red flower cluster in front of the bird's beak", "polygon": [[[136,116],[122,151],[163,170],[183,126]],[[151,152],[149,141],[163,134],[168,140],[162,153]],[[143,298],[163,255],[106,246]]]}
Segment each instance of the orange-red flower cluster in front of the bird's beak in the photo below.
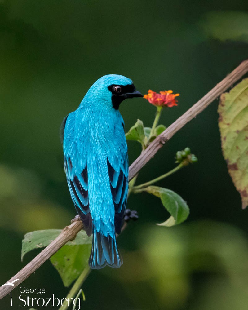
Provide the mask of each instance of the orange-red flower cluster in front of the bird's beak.
{"label": "orange-red flower cluster in front of the bird's beak", "polygon": [[179,94],[173,94],[173,91],[160,91],[159,94],[156,91],[148,90],[148,94],[143,98],[147,99],[151,104],[161,107],[173,107],[178,102],[175,97]]}

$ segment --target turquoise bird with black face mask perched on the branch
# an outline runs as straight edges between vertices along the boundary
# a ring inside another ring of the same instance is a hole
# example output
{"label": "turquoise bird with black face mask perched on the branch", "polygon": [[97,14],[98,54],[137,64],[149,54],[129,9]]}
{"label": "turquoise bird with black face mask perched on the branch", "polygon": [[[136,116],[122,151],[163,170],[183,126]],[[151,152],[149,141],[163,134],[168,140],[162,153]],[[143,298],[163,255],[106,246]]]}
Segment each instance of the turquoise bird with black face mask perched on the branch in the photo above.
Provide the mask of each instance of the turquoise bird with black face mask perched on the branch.
{"label": "turquoise bird with black face mask perched on the branch", "polygon": [[88,236],[91,269],[119,268],[120,234],[128,192],[128,154],[119,105],[143,97],[131,79],[108,74],[87,91],[60,127],[69,192]]}

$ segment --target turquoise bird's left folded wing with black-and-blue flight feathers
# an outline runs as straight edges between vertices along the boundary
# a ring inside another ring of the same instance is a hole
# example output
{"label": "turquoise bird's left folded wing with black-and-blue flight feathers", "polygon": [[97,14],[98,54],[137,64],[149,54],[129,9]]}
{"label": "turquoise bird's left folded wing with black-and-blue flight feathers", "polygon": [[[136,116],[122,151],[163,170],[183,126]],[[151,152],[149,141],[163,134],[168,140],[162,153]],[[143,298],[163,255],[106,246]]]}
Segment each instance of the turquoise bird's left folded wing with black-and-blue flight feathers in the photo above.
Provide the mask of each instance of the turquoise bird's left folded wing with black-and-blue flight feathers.
{"label": "turquoise bird's left folded wing with black-and-blue flight feathers", "polygon": [[88,196],[87,165],[81,173],[73,169],[71,159],[64,156],[64,167],[70,194],[88,236],[92,234],[92,218]]}

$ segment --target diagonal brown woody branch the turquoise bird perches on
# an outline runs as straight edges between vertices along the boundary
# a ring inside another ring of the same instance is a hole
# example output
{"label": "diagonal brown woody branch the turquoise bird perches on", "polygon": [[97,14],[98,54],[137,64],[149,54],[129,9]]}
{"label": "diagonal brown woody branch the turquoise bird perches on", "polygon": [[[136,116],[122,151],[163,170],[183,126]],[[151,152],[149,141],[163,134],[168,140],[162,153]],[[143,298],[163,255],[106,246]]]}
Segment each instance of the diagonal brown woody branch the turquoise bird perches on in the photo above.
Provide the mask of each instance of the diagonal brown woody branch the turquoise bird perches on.
{"label": "diagonal brown woody branch the turquoise bird perches on", "polygon": [[[162,148],[162,146],[173,136],[179,129],[201,113],[211,102],[226,91],[232,84],[237,82],[244,74],[248,72],[248,60],[243,61],[236,69],[234,69],[226,78],[217,84],[211,91],[194,104],[187,112],[179,117],[165,131],[162,132],[141,155],[129,167],[129,180],[131,180],[139,170]],[[65,227],[60,235],[52,241],[40,254],[38,254],[30,263],[20,270],[8,282],[19,279],[15,282],[15,286],[27,279],[35,270],[37,270],[47,259],[49,259],[57,250],[59,250],[69,240],[76,237],[77,233],[83,228],[81,221],[75,221],[71,225]],[[14,288],[13,288],[14,289]],[[0,287],[0,299],[10,292],[10,286]]]}

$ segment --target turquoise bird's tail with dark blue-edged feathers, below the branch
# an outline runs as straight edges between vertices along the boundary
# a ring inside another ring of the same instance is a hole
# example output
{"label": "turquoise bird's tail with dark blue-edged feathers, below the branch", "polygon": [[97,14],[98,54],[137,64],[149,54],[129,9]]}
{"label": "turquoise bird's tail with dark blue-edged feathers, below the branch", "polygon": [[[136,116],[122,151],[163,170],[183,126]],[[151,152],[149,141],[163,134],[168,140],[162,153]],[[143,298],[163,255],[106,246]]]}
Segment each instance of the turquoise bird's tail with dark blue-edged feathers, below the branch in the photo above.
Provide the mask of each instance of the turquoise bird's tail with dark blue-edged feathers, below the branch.
{"label": "turquoise bird's tail with dark blue-edged feathers, below the branch", "polygon": [[89,266],[91,269],[101,269],[108,265],[109,267],[119,268],[123,261],[118,253],[117,244],[114,238],[105,237],[100,232],[93,228],[93,241],[91,255],[89,258]]}

